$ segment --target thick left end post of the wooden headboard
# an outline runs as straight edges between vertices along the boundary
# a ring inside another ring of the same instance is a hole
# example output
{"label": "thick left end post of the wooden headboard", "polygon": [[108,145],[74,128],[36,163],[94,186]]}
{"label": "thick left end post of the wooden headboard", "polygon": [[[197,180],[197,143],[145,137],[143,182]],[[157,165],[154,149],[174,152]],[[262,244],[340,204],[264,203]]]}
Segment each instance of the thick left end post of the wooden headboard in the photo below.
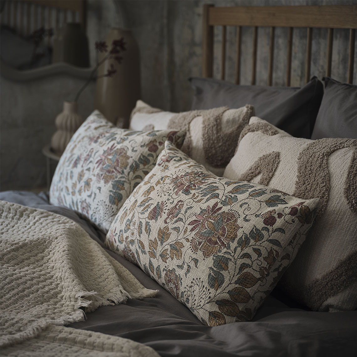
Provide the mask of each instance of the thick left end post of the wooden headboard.
{"label": "thick left end post of the wooden headboard", "polygon": [[203,49],[202,49],[202,76],[213,76],[213,26],[208,25],[208,10],[210,4],[203,5]]}

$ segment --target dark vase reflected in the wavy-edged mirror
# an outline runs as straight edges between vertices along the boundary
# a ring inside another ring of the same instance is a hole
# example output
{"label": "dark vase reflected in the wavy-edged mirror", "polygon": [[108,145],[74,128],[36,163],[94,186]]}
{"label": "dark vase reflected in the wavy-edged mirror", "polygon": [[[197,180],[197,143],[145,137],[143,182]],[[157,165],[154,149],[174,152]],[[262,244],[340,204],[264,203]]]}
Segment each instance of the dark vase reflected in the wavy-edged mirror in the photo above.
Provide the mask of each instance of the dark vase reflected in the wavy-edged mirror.
{"label": "dark vase reflected in the wavy-edged mirror", "polygon": [[79,22],[68,22],[54,37],[52,62],[89,67],[88,39]]}

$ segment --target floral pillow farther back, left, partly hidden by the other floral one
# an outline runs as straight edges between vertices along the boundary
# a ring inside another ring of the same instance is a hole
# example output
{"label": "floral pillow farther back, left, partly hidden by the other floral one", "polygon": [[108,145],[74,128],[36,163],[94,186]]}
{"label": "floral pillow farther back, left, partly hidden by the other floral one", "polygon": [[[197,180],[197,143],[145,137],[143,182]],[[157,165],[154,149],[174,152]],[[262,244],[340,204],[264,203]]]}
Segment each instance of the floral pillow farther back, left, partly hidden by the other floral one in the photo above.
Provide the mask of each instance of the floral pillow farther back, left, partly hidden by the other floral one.
{"label": "floral pillow farther back, left, partly hidden by the other floral one", "polygon": [[119,129],[95,110],[75,132],[56,167],[50,203],[80,212],[104,232],[130,193],[155,166],[166,140],[184,132]]}

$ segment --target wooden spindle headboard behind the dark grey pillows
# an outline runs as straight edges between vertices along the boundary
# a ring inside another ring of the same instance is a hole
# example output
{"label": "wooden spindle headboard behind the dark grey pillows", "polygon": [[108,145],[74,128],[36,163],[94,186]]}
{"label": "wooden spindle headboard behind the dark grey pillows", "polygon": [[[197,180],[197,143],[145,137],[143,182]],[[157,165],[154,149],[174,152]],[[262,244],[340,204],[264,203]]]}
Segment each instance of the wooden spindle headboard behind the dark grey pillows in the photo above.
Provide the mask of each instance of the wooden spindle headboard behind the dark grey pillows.
{"label": "wooden spindle headboard behind the dark grey pillows", "polygon": [[[326,36],[326,76],[331,74],[332,47],[334,29],[349,29],[348,71],[346,79],[340,79],[348,83],[353,81],[355,67],[355,32],[357,28],[357,6],[235,6],[215,7],[205,4],[203,7],[203,77],[213,77],[213,40],[214,27],[222,26],[221,44],[221,74],[220,79],[225,80],[227,26],[236,26],[236,59],[235,59],[235,83],[240,84],[241,71],[241,33],[243,26],[253,27],[252,38],[252,72],[251,84],[256,84],[257,65],[257,39],[259,27],[270,27],[269,53],[268,53],[268,79],[267,85],[273,83],[273,61],[275,28],[287,27],[286,39],[286,76],[285,85],[291,85],[291,64],[293,30],[296,27],[305,27],[306,31],[306,56],[304,81],[308,82],[311,76],[311,49],[312,32],[316,28],[325,28]],[[249,49],[250,51],[250,49]]]}

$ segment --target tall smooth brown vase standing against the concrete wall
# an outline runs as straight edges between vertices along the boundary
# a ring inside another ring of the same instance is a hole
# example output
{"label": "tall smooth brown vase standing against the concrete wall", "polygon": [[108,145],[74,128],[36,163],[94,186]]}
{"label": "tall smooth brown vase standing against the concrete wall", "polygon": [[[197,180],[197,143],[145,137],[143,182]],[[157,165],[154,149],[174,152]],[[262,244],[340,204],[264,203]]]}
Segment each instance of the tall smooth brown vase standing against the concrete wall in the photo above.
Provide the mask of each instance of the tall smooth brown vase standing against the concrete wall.
{"label": "tall smooth brown vase standing against the concrete wall", "polygon": [[[107,69],[113,65],[116,73],[112,77],[97,79],[95,94],[95,109],[119,127],[129,127],[129,117],[135,103],[140,99],[140,59],[139,47],[130,30],[111,29],[106,37],[108,47],[113,40],[124,38],[126,51],[120,55],[123,57],[119,64],[115,60],[105,61],[98,69],[98,77],[106,74]],[[101,54],[99,61],[105,54]]]}

